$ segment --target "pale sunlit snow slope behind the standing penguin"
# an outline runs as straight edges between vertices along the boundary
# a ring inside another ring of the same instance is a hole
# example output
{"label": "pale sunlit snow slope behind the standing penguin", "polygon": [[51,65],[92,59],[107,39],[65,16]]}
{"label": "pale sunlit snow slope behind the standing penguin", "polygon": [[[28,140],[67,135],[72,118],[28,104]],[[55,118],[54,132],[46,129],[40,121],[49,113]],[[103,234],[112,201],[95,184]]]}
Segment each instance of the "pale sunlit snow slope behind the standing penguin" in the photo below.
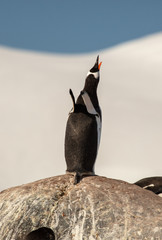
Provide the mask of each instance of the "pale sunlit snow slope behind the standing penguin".
{"label": "pale sunlit snow slope behind the standing penguin", "polygon": [[[79,94],[97,54],[0,47],[0,190],[65,172],[68,90]],[[162,33],[99,54],[96,174],[129,182],[162,175]]]}

